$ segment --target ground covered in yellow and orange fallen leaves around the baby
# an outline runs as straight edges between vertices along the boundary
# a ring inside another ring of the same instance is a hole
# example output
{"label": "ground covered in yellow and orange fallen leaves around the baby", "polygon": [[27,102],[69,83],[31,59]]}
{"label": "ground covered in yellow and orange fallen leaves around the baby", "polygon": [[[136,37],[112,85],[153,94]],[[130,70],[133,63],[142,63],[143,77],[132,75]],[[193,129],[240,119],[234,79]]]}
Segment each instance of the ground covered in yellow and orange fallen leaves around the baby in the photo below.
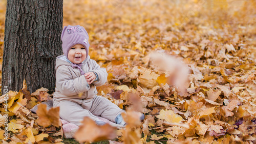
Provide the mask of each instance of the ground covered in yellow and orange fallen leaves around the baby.
{"label": "ground covered in yellow and orange fallen leaves around the baby", "polygon": [[[86,28],[91,59],[109,73],[98,95],[129,111],[124,118],[131,123],[115,141],[255,143],[255,7],[255,1],[228,0],[64,1],[63,25]],[[60,143],[58,123],[44,128],[28,110],[49,98],[46,89],[30,94],[24,83],[22,91],[9,94],[12,143]],[[3,116],[3,106],[1,111]],[[142,123],[134,111],[145,114]]]}

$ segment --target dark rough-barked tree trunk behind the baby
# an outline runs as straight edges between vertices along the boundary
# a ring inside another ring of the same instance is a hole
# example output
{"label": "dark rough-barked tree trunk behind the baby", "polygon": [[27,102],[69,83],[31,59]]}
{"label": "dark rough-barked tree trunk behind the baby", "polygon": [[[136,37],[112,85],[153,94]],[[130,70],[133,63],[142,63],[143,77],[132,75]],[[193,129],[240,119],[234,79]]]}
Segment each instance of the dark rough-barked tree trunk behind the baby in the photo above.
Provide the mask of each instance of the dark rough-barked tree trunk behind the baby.
{"label": "dark rough-barked tree trunk behind the baby", "polygon": [[[2,89],[55,88],[55,60],[62,53],[63,0],[8,0]],[[2,91],[3,92],[3,91]]]}

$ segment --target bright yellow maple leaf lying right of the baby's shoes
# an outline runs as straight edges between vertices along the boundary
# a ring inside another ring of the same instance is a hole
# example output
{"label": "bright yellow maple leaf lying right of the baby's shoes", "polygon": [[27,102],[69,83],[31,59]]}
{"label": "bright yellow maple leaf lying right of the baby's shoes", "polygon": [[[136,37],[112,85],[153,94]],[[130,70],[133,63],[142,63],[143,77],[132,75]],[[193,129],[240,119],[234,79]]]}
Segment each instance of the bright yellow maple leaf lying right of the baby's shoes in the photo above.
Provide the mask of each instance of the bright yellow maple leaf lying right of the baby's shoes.
{"label": "bright yellow maple leaf lying right of the baby's shoes", "polygon": [[173,110],[161,110],[159,115],[157,116],[158,119],[165,120],[169,123],[180,123],[183,121],[182,117],[178,114],[175,114]]}

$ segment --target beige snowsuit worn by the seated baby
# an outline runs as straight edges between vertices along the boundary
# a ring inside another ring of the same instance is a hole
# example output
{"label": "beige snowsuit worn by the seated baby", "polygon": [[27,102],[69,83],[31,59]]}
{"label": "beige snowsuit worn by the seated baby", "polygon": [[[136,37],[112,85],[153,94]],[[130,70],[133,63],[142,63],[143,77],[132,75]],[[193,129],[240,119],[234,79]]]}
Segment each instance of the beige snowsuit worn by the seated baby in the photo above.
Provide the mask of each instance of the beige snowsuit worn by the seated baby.
{"label": "beige snowsuit worn by the seated baby", "polygon": [[84,117],[96,121],[98,120],[96,116],[115,123],[118,114],[125,111],[108,99],[96,95],[96,87],[107,81],[106,69],[100,68],[88,55],[82,63],[82,70],[85,73],[95,72],[98,75],[98,81],[89,85],[79,69],[72,68],[71,63],[65,61],[63,56],[65,55],[57,56],[56,59],[56,88],[53,94],[53,106],[60,107],[60,118],[77,126],[81,125],[80,122]]}

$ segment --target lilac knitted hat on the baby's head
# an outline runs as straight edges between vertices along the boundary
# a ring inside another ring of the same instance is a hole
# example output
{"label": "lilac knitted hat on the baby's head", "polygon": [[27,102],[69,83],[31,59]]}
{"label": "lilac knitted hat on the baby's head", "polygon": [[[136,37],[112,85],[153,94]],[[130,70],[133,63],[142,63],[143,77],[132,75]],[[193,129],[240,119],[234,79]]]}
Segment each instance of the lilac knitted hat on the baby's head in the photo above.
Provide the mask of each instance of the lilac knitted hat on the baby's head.
{"label": "lilac knitted hat on the baby's head", "polygon": [[62,50],[63,53],[67,56],[69,54],[69,50],[75,44],[81,44],[86,48],[86,57],[88,56],[89,51],[89,35],[87,31],[80,25],[68,25],[64,26],[61,33],[61,41],[62,41]]}

